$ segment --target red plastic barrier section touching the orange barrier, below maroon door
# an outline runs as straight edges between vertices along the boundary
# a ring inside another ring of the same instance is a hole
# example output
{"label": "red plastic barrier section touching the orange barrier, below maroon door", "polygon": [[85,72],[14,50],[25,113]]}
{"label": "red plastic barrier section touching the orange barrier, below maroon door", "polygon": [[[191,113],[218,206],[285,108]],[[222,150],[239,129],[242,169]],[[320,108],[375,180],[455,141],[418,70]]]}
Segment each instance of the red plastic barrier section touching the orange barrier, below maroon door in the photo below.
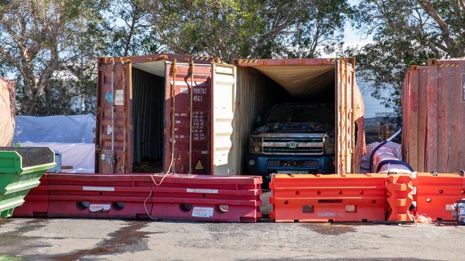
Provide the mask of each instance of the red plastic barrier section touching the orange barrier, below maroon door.
{"label": "red plastic barrier section touching the orange barrier, below maroon door", "polygon": [[261,218],[261,177],[152,176],[155,219],[209,222],[256,222]]}

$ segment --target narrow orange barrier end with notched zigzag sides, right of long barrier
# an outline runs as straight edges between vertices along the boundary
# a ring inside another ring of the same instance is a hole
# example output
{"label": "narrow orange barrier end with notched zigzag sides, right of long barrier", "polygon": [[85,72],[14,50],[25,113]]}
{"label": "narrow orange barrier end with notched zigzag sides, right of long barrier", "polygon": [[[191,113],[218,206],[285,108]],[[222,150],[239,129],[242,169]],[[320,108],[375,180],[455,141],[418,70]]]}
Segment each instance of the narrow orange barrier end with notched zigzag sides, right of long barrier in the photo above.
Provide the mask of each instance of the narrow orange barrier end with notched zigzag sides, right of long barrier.
{"label": "narrow orange barrier end with notched zigzag sides, right of long barrier", "polygon": [[414,198],[410,174],[389,174],[386,179],[387,220],[413,221],[409,208]]}

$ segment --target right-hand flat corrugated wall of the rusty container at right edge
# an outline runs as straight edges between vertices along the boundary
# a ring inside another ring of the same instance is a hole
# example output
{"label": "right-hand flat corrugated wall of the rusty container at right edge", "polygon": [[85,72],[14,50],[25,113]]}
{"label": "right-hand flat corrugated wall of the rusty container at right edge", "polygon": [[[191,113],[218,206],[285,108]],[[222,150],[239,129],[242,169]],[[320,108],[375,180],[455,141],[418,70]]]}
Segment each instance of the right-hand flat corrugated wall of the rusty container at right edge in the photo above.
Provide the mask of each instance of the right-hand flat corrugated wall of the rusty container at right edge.
{"label": "right-hand flat corrugated wall of the rusty container at right edge", "polygon": [[465,58],[428,60],[426,171],[457,172],[465,162]]}

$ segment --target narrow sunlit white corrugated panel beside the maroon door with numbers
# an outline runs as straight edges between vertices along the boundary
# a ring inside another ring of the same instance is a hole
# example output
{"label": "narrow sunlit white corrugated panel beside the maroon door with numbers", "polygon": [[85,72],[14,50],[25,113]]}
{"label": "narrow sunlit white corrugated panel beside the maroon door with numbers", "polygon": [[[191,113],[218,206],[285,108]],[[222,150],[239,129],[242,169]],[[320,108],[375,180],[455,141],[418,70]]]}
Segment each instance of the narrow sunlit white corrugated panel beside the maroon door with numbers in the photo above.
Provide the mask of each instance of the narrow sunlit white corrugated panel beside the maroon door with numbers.
{"label": "narrow sunlit white corrugated panel beside the maroon door with numbers", "polygon": [[213,64],[213,106],[211,133],[213,134],[213,174],[235,175],[240,166],[235,129],[236,68],[234,65]]}

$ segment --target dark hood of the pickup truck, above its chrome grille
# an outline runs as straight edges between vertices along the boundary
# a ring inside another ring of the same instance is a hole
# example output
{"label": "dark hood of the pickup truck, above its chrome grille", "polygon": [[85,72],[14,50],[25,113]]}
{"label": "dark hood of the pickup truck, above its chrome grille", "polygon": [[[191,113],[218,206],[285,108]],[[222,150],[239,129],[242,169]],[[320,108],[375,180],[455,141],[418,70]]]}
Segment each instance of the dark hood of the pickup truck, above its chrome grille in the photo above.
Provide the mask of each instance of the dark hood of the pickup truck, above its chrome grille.
{"label": "dark hood of the pickup truck, above its chrome grille", "polygon": [[334,138],[334,126],[318,122],[285,122],[263,125],[252,134],[261,133],[326,133]]}

